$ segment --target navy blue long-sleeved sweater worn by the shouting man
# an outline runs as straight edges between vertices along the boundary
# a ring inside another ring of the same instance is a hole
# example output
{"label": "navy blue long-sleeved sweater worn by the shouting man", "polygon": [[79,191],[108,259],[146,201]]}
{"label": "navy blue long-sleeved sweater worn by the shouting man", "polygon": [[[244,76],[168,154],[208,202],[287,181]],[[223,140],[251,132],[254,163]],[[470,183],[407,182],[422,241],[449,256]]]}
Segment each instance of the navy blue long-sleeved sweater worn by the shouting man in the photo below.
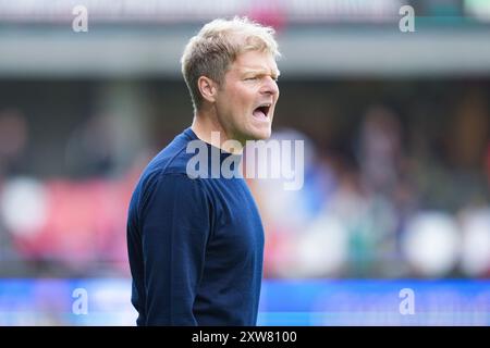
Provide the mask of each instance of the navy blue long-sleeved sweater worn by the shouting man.
{"label": "navy blue long-sleeved sweater worn by the shouting man", "polygon": [[[243,178],[189,178],[185,129],[148,164],[130,203],[138,325],[256,325],[264,228]],[[200,140],[198,140],[200,141]],[[207,149],[218,150],[209,144]],[[221,153],[221,163],[230,153]]]}

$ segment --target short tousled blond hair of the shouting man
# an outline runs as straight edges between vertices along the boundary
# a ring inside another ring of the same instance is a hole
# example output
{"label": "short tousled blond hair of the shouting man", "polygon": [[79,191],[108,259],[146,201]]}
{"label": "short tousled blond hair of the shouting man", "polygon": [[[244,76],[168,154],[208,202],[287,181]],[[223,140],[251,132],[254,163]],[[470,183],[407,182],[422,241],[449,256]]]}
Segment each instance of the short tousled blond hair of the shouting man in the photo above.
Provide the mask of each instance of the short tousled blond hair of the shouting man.
{"label": "short tousled blond hair of the shouting man", "polygon": [[268,52],[274,59],[281,57],[274,33],[271,27],[236,16],[233,20],[215,20],[191,38],[182,54],[181,64],[194,110],[197,111],[203,102],[197,87],[200,76],[221,84],[229,66],[238,54],[246,51]]}

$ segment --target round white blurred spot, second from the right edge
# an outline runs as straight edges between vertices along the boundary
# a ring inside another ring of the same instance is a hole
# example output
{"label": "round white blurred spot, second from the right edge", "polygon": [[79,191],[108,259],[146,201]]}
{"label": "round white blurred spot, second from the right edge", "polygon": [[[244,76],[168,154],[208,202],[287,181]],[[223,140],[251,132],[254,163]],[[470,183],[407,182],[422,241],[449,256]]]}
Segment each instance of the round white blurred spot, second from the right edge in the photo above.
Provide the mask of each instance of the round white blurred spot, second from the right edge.
{"label": "round white blurred spot, second from the right edge", "polygon": [[451,215],[424,212],[407,225],[402,250],[408,263],[421,275],[446,275],[454,268],[460,252],[460,233]]}

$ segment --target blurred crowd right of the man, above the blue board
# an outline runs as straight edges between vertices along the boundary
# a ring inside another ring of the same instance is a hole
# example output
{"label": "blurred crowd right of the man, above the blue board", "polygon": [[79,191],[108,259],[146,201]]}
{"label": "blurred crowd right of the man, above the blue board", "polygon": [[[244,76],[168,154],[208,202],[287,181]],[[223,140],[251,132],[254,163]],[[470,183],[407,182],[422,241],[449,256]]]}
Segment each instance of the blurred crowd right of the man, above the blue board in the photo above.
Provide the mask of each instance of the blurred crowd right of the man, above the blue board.
{"label": "blurred crowd right of the man, above the blue board", "polygon": [[[307,140],[302,190],[254,183],[269,233],[267,275],[489,276],[490,114],[473,102],[454,120],[456,134],[444,135],[457,163],[431,153],[430,135],[407,140],[396,113],[375,105],[351,139],[352,161]],[[277,136],[308,139],[294,133]]]}

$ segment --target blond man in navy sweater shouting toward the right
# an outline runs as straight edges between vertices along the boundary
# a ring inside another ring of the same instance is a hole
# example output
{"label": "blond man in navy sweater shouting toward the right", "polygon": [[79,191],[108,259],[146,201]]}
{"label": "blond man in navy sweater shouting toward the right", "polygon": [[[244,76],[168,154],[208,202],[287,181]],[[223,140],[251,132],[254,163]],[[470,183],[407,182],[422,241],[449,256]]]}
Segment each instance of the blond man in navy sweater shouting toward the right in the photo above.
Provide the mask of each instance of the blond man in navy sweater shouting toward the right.
{"label": "blond man in navy sweater shouting toward the right", "polygon": [[273,30],[246,18],[212,21],[188,41],[182,72],[194,122],[148,164],[130,204],[138,325],[256,325],[264,254],[257,207],[243,178],[192,178],[187,147],[201,141],[223,163],[241,156],[228,140],[270,137],[279,54]]}

